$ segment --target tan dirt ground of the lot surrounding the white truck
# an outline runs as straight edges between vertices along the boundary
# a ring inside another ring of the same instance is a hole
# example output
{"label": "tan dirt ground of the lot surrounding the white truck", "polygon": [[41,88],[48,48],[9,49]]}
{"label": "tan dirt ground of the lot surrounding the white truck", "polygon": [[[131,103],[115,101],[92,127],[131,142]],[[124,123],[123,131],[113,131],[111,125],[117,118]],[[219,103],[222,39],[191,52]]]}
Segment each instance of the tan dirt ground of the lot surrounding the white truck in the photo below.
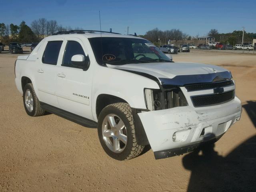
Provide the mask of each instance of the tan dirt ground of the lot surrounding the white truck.
{"label": "tan dirt ground of the lot surrounding the white truck", "polygon": [[[28,48],[24,48],[28,50]],[[14,82],[17,55],[0,54],[0,191],[256,191],[256,55],[192,50],[174,61],[230,70],[243,112],[215,146],[155,160],[116,161],[97,130],[49,114],[30,117]],[[225,109],[223,109],[225,110]]]}

